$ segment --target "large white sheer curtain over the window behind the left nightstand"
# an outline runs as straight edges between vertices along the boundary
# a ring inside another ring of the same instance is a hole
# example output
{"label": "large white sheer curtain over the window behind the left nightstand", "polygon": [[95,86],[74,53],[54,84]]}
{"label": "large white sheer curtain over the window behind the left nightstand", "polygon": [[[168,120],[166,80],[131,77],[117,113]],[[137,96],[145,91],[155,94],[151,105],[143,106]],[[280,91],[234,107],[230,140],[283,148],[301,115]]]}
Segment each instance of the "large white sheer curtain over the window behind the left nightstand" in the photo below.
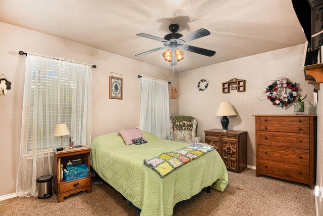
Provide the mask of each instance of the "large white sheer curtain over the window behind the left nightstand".
{"label": "large white sheer curtain over the window behind the left nightstand", "polygon": [[[85,63],[27,55],[24,86],[18,196],[37,196],[36,179],[52,175],[53,137],[57,123],[66,123],[75,145],[91,142],[92,68]],[[68,146],[68,137],[63,146]]]}

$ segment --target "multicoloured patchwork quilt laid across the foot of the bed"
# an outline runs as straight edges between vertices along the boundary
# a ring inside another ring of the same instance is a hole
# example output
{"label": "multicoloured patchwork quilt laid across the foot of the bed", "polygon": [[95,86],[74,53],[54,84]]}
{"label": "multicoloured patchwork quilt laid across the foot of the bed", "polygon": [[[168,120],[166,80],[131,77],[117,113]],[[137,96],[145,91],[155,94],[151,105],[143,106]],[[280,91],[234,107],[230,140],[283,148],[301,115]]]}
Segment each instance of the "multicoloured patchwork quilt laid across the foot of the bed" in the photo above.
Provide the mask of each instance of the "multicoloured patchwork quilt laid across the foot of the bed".
{"label": "multicoloured patchwork quilt laid across the foot of the bed", "polygon": [[204,143],[195,143],[185,148],[160,154],[158,157],[144,159],[143,164],[151,167],[161,178],[186,163],[198,159],[202,155],[215,150],[213,146]]}

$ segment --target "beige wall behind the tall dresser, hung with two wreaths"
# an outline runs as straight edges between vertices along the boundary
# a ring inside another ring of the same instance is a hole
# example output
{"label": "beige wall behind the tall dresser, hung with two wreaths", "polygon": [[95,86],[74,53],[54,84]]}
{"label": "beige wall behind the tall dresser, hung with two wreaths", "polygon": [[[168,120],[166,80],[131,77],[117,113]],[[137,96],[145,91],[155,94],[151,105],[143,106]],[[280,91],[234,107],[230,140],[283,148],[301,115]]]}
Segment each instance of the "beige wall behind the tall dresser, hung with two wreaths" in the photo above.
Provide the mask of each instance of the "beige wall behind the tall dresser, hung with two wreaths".
{"label": "beige wall behind the tall dresser, hung with two wreaths", "polygon": [[[215,116],[220,102],[230,101],[238,115],[229,116],[229,129],[248,132],[248,165],[255,166],[255,120],[254,114],[293,114],[293,106],[287,109],[273,106],[266,99],[265,88],[276,77],[285,76],[299,83],[300,92],[305,99],[307,114],[315,113],[313,87],[304,80],[300,71],[304,45],[261,53],[228,62],[210,65],[180,74],[179,77],[179,114],[191,115],[197,119],[197,135],[204,140],[204,130],[222,128],[221,116]],[[217,55],[214,56],[217,58]],[[209,80],[206,91],[199,92],[197,82]],[[246,92],[231,91],[222,93],[222,82],[232,78],[246,80]],[[264,99],[263,101],[259,100]]]}

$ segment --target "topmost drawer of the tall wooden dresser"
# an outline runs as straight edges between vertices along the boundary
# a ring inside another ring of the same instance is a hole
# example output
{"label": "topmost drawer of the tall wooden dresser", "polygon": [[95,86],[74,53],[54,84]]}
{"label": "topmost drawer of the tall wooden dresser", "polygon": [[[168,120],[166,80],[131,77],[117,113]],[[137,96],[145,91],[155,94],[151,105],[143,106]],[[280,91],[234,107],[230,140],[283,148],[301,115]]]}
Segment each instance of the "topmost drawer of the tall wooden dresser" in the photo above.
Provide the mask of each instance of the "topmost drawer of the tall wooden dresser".
{"label": "topmost drawer of the tall wooden dresser", "polygon": [[309,125],[309,118],[308,117],[258,117],[258,123]]}

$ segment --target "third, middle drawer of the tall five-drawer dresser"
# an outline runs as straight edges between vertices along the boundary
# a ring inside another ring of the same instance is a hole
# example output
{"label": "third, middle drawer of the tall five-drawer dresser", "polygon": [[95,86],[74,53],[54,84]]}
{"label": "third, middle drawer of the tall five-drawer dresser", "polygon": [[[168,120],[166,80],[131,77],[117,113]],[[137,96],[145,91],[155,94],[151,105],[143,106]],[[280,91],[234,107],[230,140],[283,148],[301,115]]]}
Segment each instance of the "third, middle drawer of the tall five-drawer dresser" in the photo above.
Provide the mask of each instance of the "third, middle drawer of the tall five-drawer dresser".
{"label": "third, middle drawer of the tall five-drawer dresser", "polygon": [[309,149],[309,134],[259,131],[258,144]]}

